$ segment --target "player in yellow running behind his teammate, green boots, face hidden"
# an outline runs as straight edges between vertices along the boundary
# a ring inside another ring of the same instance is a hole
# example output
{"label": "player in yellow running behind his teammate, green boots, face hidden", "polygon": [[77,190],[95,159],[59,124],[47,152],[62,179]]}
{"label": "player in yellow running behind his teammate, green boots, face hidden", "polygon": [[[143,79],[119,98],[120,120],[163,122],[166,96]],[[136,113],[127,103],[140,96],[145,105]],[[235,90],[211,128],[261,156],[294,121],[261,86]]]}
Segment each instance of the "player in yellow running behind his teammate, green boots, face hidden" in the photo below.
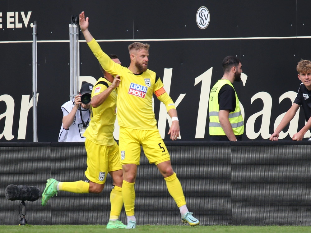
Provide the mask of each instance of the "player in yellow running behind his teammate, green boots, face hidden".
{"label": "player in yellow running behind his teammate, green boots, face hidden", "polygon": [[[115,55],[111,61],[121,64]],[[114,78],[102,67],[100,68],[104,77],[101,77],[93,87],[91,121],[83,134],[86,137],[85,149],[87,153],[85,175],[89,181],[59,182],[53,178],[48,179],[42,194],[42,206],[45,206],[47,201],[58,191],[99,194],[104,189],[107,173],[109,173],[113,179],[113,185],[110,193],[111,209],[107,228],[125,228],[126,225],[118,220],[123,206],[121,188],[123,173],[118,144],[113,137],[116,119],[116,88],[120,83],[120,78],[118,75]]]}

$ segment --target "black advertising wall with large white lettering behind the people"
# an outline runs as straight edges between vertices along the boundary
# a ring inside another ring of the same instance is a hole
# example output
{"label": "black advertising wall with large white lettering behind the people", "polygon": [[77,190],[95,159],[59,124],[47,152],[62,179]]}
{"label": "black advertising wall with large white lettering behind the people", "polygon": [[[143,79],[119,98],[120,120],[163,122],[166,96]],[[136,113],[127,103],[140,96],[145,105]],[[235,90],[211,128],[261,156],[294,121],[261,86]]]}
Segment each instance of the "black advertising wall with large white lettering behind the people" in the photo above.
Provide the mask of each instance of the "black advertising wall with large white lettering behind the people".
{"label": "black advertising wall with large white lettering behind the people", "polygon": [[[57,141],[60,106],[69,100],[69,24],[81,11],[103,51],[117,54],[123,65],[129,64],[128,44],[151,45],[149,68],[178,103],[182,141],[209,140],[209,92],[223,74],[223,58],[237,56],[243,65],[242,82],[234,83],[244,112],[243,140],[267,140],[295,99],[297,62],[311,59],[310,7],[307,0],[2,1],[0,142],[32,141],[34,21],[38,141]],[[83,35],[79,39],[80,79],[96,80],[98,62]],[[156,98],[155,113],[161,135],[169,140],[166,113]],[[280,139],[289,140],[304,124],[300,110]]]}

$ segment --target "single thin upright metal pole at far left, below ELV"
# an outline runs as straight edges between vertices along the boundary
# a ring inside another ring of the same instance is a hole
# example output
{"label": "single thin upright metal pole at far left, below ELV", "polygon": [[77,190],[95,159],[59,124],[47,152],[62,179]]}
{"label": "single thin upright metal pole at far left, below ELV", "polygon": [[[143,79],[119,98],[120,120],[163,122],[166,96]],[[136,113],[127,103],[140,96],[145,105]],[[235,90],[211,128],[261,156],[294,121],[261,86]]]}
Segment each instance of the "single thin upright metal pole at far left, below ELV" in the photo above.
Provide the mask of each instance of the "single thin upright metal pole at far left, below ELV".
{"label": "single thin upright metal pole at far left, below ELV", "polygon": [[32,119],[33,119],[33,141],[38,142],[37,135],[37,21],[33,26],[32,43]]}

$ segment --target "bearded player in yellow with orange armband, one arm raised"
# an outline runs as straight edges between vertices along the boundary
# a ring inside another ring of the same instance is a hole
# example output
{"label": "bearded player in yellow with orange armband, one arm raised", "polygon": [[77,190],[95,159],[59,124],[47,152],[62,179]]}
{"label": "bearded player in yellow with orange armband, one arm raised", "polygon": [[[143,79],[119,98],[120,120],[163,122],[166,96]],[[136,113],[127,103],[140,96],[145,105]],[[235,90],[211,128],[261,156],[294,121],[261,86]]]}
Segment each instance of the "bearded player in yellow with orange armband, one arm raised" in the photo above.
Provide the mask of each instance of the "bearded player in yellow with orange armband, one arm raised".
{"label": "bearded player in yellow with orange armband, one arm raised", "polygon": [[200,222],[186,206],[182,186],[171,166],[169,153],[156,126],[152,110],[152,94],[166,106],[172,125],[168,134],[172,140],[179,136],[179,121],[172,99],[165,92],[163,83],[155,72],[148,70],[149,45],[134,42],[129,45],[130,66],[123,67],[105,54],[88,30],[89,19],[80,14],[80,29],[101,66],[112,75],[120,75],[117,97],[117,114],[120,126],[119,152],[123,169],[122,196],[128,218],[127,228],[136,228],[134,215],[135,178],[140,161],[140,145],[150,163],[155,163],[164,176],[169,193],[180,209],[183,222],[190,226]]}

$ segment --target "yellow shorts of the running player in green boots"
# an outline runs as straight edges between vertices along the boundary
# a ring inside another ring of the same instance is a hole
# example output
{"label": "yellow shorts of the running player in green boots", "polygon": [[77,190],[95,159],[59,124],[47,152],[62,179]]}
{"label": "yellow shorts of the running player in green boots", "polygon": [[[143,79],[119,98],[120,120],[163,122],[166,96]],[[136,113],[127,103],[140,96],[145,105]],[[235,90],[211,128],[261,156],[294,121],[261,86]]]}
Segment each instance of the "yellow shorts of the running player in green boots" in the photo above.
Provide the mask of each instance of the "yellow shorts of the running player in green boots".
{"label": "yellow shorts of the running player in green boots", "polygon": [[109,171],[122,169],[119,156],[118,144],[104,146],[85,140],[87,153],[87,169],[85,175],[87,179],[97,184],[104,184]]}

